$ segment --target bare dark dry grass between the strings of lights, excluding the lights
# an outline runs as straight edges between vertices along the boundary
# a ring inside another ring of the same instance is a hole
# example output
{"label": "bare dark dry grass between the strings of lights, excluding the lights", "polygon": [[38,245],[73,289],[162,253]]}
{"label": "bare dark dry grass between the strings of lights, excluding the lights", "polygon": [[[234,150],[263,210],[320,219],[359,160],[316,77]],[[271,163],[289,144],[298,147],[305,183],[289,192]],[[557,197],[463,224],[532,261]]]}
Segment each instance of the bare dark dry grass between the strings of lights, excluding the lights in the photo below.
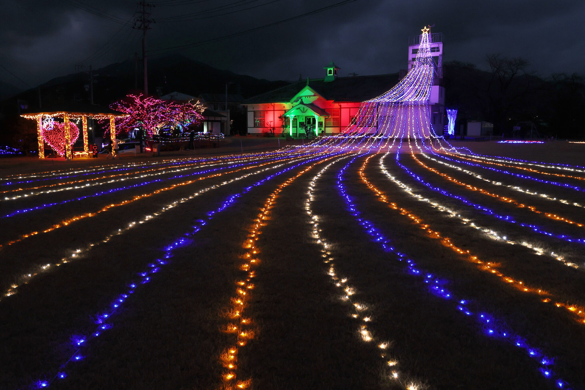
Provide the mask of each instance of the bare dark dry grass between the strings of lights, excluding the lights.
{"label": "bare dark dry grass between the strings of lights, excluding the lights", "polygon": [[[250,151],[259,151],[263,147],[272,150],[272,143],[274,140],[254,140],[248,147]],[[580,144],[561,141],[543,145],[459,141],[455,144],[470,147],[479,154],[585,166],[585,154],[581,153],[585,151],[585,145]],[[498,269],[510,277],[542,287],[558,301],[585,306],[581,288],[583,267],[576,270],[552,257],[538,256],[526,247],[491,240],[479,230],[463,225],[459,219],[450,218],[428,203],[415,200],[380,171],[381,156],[370,158],[364,175],[391,202],[419,216],[424,223],[432,225],[433,230],[449,236],[454,244],[476,253],[481,260],[497,263]],[[585,209],[491,185],[426,160],[421,155],[417,157],[429,167],[467,184],[585,222]],[[164,158],[167,157],[159,160]],[[439,240],[429,237],[408,216],[380,202],[358,174],[365,158],[357,158],[347,168],[344,181],[363,218],[373,222],[394,241],[398,250],[415,259],[420,268],[446,279],[446,286],[454,294],[466,296],[474,307],[481,307],[502,319],[530,344],[542,348],[542,353],[555,357],[555,374],[574,388],[585,388],[585,324],[577,322],[569,310],[557,308],[553,303],[543,303],[539,296],[519,291],[501,278],[480,270]],[[137,158],[133,161],[143,160]],[[338,274],[349,279],[356,290],[355,299],[368,305],[373,336],[376,340],[391,343],[388,354],[400,362],[397,370],[401,378],[415,379],[419,389],[554,388],[554,383],[539,373],[538,362],[525,351],[506,341],[486,337],[476,322],[457,313],[452,302],[429,294],[420,278],[404,271],[404,263],[371,241],[371,236],[347,211],[336,187],[338,172],[347,161],[349,158],[331,165],[319,179],[314,191],[313,212],[319,216],[322,237],[332,245],[331,253],[336,259]],[[393,154],[386,157],[388,170],[419,194],[449,205],[478,225],[505,230],[511,236],[565,254],[567,259],[583,266],[585,251],[581,244],[535,234],[477,212],[417,184],[394,161]],[[13,160],[15,164],[12,166],[10,162],[9,159],[0,161],[2,175],[40,170],[31,161]],[[433,185],[515,219],[559,233],[585,236],[580,235],[582,228],[542,218],[457,186],[421,167],[408,153],[401,154],[401,162]],[[74,161],[73,164],[92,167],[104,164],[104,161]],[[276,164],[267,167],[273,165]],[[359,337],[359,320],[350,316],[351,307],[340,299],[340,290],[326,274],[328,265],[322,261],[321,246],[311,236],[304,202],[309,181],[324,165],[316,165],[285,187],[271,209],[270,219],[264,221],[262,234],[256,241],[260,263],[246,314],[254,320],[257,334],[242,348],[238,375],[252,378],[254,389],[401,388],[399,382],[388,378],[388,367],[379,357],[380,349]],[[58,168],[68,166],[61,164]],[[233,296],[233,281],[242,277],[242,272],[238,271],[244,253],[242,243],[271,192],[306,166],[301,165],[252,188],[232,206],[217,213],[201,232],[188,237],[185,246],[173,251],[170,262],[152,274],[149,283],[136,288],[136,292],[111,317],[112,329],[89,339],[87,346],[80,351],[84,358],[68,364],[64,369],[67,378],[51,382],[50,388],[220,388],[225,369],[218,363],[218,357],[233,340],[230,334],[221,332],[225,323],[222,313]],[[36,276],[29,284],[20,286],[17,294],[3,297],[0,300],[0,389],[24,389],[39,379],[50,379],[75,351],[71,336],[87,337],[95,328],[97,313],[108,308],[130,281],[139,278],[137,272],[161,258],[164,247],[190,231],[195,220],[207,218],[208,211],[218,208],[228,196],[242,192],[243,188],[269,177],[278,169],[225,185],[221,184],[245,172],[196,181],[0,247],[0,287],[5,288],[9,282],[18,280],[23,272],[36,270],[39,264],[58,261],[75,248],[85,248],[88,243],[101,241],[108,234],[128,226],[130,221],[198,189],[221,185],[178,203],[153,220],[113,236],[107,243],[84,251],[77,260]],[[519,182],[481,168],[469,167],[469,170],[481,170],[481,175],[486,178],[521,184],[523,188],[539,191],[543,188],[540,184]],[[197,169],[190,172],[195,171]],[[574,185],[582,183],[558,179]],[[168,179],[0,219],[0,244],[71,216],[184,180]],[[59,181],[46,181],[47,184],[56,182]],[[99,191],[119,185],[126,184],[104,184],[99,186]],[[93,194],[98,191],[96,188],[2,201],[0,210],[5,215],[39,203]],[[579,192],[568,192],[560,187],[549,186],[546,191],[575,201],[582,198]],[[402,381],[402,384],[406,383]]]}

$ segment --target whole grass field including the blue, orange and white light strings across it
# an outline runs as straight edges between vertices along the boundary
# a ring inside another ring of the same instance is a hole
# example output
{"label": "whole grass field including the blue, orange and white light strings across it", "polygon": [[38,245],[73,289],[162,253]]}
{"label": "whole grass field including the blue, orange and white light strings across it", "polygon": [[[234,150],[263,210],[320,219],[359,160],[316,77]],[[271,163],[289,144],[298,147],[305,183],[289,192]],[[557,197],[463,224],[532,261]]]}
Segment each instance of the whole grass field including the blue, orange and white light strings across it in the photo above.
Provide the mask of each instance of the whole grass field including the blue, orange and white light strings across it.
{"label": "whole grass field including the blue, orange and white light strings across it", "polygon": [[585,145],[399,143],[0,160],[0,389],[585,388]]}

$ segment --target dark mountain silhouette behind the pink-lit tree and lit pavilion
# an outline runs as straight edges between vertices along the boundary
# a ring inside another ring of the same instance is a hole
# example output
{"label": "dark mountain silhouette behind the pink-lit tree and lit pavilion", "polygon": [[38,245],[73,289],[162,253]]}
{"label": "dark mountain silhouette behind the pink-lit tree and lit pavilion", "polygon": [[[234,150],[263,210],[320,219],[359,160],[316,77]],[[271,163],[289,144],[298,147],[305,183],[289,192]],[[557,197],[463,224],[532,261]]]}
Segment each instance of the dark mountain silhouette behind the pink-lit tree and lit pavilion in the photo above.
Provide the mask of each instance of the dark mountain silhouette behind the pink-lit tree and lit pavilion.
{"label": "dark mountain silhouette behind the pink-lit tree and lit pavilion", "polygon": [[[247,98],[288,84],[287,81],[269,81],[217,69],[181,54],[149,58],[148,75],[149,94],[159,96],[174,91],[191,96],[202,93],[225,94],[225,84],[228,82],[229,94],[239,94]],[[108,106],[125,95],[142,92],[140,61],[136,63],[132,59],[106,65],[93,70],[92,77],[94,103],[97,105]],[[2,113],[6,116],[38,109],[39,91],[42,106],[55,106],[70,101],[90,102],[90,73],[85,70],[68,74],[17,95],[9,93],[8,95],[13,96],[2,101]],[[0,83],[0,99],[1,92]],[[26,109],[22,108],[23,102]]]}

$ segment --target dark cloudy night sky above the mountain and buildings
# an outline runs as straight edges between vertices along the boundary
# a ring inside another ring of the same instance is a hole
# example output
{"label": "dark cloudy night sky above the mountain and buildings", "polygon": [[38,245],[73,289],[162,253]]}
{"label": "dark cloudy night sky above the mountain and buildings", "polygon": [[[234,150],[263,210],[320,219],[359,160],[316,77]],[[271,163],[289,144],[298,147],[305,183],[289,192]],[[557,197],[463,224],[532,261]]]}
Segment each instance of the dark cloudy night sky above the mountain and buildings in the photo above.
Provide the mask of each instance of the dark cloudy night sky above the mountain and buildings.
{"label": "dark cloudy night sky above the mountain and buildings", "polygon": [[[148,49],[213,39],[338,2],[153,1],[158,5],[152,8],[156,23],[147,35]],[[132,29],[135,1],[8,0],[3,5],[0,65],[6,69],[0,67],[0,81],[23,89],[27,85],[9,72],[34,87],[74,73],[75,64],[99,68],[133,58],[141,50],[142,32]],[[205,12],[218,6],[226,8]],[[257,7],[246,9],[252,6]],[[221,15],[228,12],[232,13]],[[209,18],[214,15],[221,16]],[[186,20],[174,21],[177,16]],[[216,68],[269,80],[297,80],[300,73],[304,78],[323,77],[322,67],[331,60],[342,68],[341,76],[394,73],[406,67],[408,36],[435,24],[431,32],[445,34],[444,61],[482,67],[487,53],[521,56],[530,61],[532,71],[546,77],[585,73],[583,20],[582,0],[357,0],[259,32],[149,55],[177,52]]]}

